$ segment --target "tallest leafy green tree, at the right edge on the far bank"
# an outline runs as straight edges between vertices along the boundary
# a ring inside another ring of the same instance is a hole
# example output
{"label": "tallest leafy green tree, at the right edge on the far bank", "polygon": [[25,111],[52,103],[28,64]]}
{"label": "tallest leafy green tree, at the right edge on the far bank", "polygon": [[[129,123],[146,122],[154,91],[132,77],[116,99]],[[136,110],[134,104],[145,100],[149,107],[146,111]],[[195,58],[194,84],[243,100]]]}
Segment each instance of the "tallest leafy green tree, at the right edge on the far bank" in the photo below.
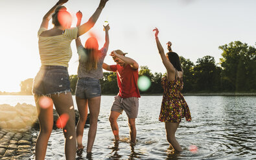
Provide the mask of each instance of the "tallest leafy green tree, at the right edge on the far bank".
{"label": "tallest leafy green tree, at the right edge on the far bank", "polygon": [[[244,76],[242,72],[246,72],[244,87],[246,87],[246,90],[250,90],[251,83],[255,82],[256,79],[255,72],[251,70],[251,68],[255,66],[255,47],[248,46],[246,43],[241,43],[240,41],[235,41],[228,45],[219,46],[219,48],[223,51],[223,58],[220,59],[220,64],[223,68],[221,75],[224,90],[239,91],[241,87],[240,76]],[[256,89],[255,85],[253,89]]]}

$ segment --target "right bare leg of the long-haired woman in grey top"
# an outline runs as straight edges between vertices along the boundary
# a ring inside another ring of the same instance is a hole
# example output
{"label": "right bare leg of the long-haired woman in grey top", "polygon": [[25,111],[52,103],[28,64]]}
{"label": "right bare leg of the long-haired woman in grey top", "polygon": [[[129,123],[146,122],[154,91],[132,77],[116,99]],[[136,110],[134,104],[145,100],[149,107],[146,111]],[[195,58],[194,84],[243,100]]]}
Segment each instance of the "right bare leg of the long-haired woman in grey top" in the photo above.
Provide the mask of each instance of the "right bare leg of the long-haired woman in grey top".
{"label": "right bare leg of the long-haired woman in grey top", "polygon": [[90,128],[88,132],[88,141],[86,152],[90,153],[93,149],[93,143],[97,133],[98,117],[100,113],[100,96],[88,99],[90,112]]}

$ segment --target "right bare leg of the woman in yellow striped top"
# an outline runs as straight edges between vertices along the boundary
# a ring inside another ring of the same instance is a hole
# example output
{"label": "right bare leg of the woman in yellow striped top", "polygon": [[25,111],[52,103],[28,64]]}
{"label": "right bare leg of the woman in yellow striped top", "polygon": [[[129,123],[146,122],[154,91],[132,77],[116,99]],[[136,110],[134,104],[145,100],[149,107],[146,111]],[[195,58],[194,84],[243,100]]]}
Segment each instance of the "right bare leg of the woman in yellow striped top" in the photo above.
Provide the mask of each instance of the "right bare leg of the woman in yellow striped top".
{"label": "right bare leg of the woman in yellow striped top", "polygon": [[65,136],[65,159],[76,157],[76,131],[75,131],[75,110],[71,92],[67,94],[51,95],[56,111],[59,115],[69,115],[69,120],[63,130]]}

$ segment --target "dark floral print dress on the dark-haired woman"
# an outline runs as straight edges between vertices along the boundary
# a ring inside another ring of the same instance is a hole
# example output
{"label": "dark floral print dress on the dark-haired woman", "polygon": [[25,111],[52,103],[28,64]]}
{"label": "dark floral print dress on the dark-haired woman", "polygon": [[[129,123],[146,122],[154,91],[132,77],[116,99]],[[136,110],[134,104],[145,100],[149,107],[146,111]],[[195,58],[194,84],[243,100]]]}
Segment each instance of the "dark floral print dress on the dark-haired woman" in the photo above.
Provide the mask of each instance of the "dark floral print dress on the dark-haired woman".
{"label": "dark floral print dress on the dark-haired woman", "polygon": [[182,79],[177,77],[174,81],[168,81],[167,77],[163,77],[161,85],[163,86],[163,100],[159,121],[177,123],[182,117],[185,117],[186,121],[191,121],[189,106],[181,94]]}

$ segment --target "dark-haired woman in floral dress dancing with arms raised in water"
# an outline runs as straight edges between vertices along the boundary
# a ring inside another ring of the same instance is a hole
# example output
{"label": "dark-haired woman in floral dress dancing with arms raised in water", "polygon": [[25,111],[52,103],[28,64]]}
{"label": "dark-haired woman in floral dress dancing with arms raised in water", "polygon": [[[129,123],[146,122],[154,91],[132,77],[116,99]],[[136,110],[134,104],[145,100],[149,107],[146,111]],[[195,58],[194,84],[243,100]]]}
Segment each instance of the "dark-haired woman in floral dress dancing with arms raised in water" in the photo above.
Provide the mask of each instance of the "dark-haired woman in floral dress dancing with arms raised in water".
{"label": "dark-haired woman in floral dress dancing with arms raised in water", "polygon": [[174,148],[174,150],[181,152],[183,149],[175,138],[175,133],[180,125],[182,117],[187,121],[191,121],[191,113],[189,106],[181,94],[183,88],[183,70],[181,68],[180,57],[170,48],[171,43],[167,43],[169,52],[165,55],[163,46],[158,39],[158,29],[156,31],[156,44],[163,61],[163,65],[167,69],[167,75],[161,80],[163,86],[163,101],[161,104],[161,112],[159,121],[165,122],[165,130],[167,134],[167,141]]}

